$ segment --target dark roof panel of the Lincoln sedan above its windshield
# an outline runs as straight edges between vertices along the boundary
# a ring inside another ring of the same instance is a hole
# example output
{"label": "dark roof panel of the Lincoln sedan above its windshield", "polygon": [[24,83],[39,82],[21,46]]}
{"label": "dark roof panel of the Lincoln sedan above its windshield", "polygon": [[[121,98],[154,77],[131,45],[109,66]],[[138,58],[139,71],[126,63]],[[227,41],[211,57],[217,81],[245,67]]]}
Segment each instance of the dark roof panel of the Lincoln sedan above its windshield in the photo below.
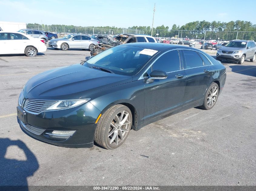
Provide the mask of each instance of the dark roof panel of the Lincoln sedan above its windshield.
{"label": "dark roof panel of the Lincoln sedan above its windshield", "polygon": [[120,46],[136,46],[136,47],[141,47],[145,49],[153,49],[153,50],[158,50],[158,51],[166,51],[168,49],[192,49],[192,50],[197,50],[201,52],[199,49],[187,47],[187,46],[181,46],[177,44],[165,44],[165,43],[127,43],[123,44]]}

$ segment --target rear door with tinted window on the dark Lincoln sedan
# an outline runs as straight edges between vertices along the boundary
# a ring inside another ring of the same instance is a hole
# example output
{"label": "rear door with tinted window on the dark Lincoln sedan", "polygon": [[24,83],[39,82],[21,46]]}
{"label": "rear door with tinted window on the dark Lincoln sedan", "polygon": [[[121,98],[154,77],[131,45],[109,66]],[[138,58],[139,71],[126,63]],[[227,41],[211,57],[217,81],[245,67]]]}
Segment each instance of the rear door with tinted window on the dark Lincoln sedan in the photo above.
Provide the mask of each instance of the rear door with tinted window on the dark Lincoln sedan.
{"label": "rear door with tinted window on the dark Lincoln sedan", "polygon": [[194,50],[183,50],[182,52],[187,75],[184,105],[187,105],[203,98],[211,82],[212,70],[211,62],[202,53]]}

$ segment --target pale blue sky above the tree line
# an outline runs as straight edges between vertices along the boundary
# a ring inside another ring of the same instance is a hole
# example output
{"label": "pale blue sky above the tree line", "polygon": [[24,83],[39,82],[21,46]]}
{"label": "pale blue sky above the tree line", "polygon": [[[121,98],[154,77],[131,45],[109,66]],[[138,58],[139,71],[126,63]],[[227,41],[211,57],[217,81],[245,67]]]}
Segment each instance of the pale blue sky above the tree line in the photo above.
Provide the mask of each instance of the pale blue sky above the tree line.
{"label": "pale blue sky above the tree line", "polygon": [[[0,0],[0,21],[76,26],[183,25],[191,21],[251,21],[253,0]],[[251,5],[251,6],[250,6]],[[203,11],[204,10],[204,11]]]}

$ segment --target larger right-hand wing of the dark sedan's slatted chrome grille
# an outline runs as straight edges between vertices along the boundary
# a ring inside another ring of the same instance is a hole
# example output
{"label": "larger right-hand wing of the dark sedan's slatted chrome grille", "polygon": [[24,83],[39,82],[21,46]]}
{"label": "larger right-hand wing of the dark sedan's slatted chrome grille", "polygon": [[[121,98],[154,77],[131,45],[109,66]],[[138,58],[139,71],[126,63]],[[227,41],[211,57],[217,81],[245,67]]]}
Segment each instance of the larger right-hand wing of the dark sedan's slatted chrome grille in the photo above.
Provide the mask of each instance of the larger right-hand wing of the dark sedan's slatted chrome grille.
{"label": "larger right-hand wing of the dark sedan's slatted chrome grille", "polygon": [[52,106],[54,103],[57,103],[56,100],[35,100],[35,99],[27,99],[24,108],[34,114],[41,113],[45,111],[46,108]]}

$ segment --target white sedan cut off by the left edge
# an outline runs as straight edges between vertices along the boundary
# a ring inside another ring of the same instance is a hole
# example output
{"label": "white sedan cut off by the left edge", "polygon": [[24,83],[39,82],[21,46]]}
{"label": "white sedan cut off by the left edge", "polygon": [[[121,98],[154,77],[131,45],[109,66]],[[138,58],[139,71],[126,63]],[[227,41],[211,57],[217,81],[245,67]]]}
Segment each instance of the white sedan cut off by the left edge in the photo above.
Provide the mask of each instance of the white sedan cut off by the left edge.
{"label": "white sedan cut off by the left edge", "polygon": [[0,31],[0,55],[25,53],[26,56],[31,57],[45,52],[46,49],[42,39],[19,32]]}

